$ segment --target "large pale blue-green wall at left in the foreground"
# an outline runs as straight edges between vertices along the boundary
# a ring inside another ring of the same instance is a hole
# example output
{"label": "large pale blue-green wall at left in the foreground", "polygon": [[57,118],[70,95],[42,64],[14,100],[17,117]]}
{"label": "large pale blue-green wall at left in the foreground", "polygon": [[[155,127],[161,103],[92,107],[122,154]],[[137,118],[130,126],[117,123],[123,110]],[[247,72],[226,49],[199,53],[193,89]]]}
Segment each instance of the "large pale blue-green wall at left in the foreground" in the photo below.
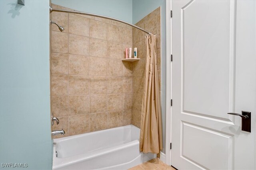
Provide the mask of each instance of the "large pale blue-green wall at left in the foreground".
{"label": "large pale blue-green wall at left in the foreground", "polygon": [[0,0],[0,169],[52,168],[49,1]]}

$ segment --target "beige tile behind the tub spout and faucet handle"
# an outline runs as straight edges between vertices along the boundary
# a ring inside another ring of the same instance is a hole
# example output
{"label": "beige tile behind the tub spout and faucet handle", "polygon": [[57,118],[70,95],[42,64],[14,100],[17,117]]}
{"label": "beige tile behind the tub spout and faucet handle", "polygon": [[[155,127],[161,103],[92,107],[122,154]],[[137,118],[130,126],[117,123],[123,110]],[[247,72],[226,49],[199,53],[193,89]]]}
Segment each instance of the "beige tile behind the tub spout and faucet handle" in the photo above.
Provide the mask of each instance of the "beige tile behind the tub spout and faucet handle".
{"label": "beige tile behind the tub spout and faucet handle", "polygon": [[60,123],[57,125],[56,122],[54,122],[54,125],[52,126],[52,130],[61,130],[61,129],[63,129],[65,131],[65,134],[64,135],[54,135],[54,136],[52,136],[53,139],[69,136],[68,116],[58,117],[58,119],[59,119]]}

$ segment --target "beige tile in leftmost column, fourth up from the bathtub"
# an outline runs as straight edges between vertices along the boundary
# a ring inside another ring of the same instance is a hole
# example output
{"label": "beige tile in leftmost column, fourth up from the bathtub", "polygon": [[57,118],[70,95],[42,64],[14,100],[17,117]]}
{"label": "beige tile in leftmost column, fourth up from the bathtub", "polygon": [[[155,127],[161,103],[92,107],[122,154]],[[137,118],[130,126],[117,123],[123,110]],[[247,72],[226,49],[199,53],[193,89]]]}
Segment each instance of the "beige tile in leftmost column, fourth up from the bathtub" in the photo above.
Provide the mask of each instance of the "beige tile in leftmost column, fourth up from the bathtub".
{"label": "beige tile in leftmost column, fourth up from the bathtub", "polygon": [[52,53],[51,73],[52,74],[68,74],[68,55],[67,54]]}

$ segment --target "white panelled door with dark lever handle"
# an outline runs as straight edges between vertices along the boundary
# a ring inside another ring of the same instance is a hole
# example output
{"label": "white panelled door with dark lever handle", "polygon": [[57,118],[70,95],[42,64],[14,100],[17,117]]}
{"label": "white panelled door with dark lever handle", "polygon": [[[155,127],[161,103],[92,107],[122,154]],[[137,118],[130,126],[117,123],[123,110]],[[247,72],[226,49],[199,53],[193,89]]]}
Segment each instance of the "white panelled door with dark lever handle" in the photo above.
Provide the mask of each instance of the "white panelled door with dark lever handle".
{"label": "white panelled door with dark lever handle", "polygon": [[[256,1],[172,1],[172,150],[179,170],[256,169]],[[251,133],[242,118],[251,112]]]}

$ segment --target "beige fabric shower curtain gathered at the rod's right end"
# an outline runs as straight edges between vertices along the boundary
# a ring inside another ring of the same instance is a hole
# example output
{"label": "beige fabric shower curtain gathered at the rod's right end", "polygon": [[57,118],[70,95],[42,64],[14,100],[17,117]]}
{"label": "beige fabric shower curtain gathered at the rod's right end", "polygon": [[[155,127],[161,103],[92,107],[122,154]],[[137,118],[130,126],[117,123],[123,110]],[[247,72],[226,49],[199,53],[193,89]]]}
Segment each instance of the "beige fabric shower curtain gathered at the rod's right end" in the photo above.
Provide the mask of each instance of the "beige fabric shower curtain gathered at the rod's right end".
{"label": "beige fabric shower curtain gathered at the rod's right end", "polygon": [[146,35],[146,66],[140,125],[140,151],[160,153],[162,141],[162,113],[156,66],[156,36]]}

